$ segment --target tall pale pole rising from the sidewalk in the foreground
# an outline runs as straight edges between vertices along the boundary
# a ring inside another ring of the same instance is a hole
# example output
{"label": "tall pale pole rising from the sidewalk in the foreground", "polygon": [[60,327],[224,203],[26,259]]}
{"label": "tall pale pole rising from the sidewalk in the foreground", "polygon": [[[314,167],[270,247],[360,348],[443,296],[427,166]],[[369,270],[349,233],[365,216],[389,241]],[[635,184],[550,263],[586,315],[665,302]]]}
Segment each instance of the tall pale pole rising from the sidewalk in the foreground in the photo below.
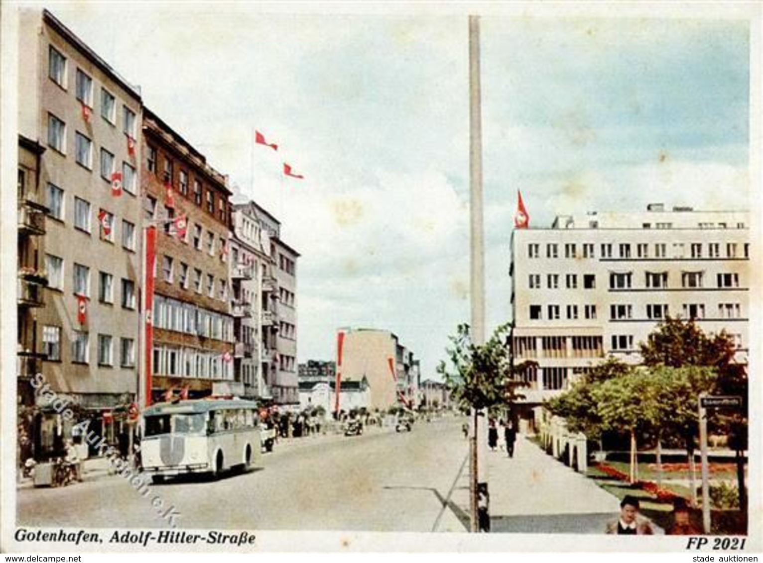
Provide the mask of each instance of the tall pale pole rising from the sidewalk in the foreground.
{"label": "tall pale pole rising from the sidewalk in the foreground", "polygon": [[[480,38],[479,17],[469,16],[469,188],[470,188],[470,226],[471,226],[471,278],[470,293],[472,301],[472,343],[485,343],[485,240],[482,227],[482,116],[480,88]],[[483,417],[484,418],[484,417]],[[479,531],[478,508],[486,499],[480,501],[479,485],[487,487],[486,468],[481,468],[478,460],[482,432],[480,417],[476,409],[472,410],[472,436],[470,437],[470,501],[472,508],[472,532]],[[481,471],[480,471],[481,469]],[[482,478],[480,478],[482,477]]]}

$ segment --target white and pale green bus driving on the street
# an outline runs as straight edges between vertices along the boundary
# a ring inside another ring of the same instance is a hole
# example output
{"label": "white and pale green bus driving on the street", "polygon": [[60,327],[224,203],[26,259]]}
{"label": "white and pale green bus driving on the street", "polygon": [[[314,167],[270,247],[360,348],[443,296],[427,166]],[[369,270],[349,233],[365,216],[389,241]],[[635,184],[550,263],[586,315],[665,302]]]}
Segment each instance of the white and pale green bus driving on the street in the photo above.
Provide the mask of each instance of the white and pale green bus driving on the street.
{"label": "white and pale green bus driving on the street", "polygon": [[152,405],[143,411],[140,459],[153,481],[257,465],[261,456],[257,404],[204,398]]}

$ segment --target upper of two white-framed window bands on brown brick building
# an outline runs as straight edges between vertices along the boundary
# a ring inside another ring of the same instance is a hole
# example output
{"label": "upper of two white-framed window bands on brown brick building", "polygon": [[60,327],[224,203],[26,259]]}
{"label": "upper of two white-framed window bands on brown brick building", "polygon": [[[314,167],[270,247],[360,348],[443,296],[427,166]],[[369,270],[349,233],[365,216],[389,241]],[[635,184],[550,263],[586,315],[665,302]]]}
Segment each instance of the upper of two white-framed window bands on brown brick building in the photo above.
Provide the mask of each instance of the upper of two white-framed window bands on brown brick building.
{"label": "upper of two white-framed window bands on brown brick building", "polygon": [[154,296],[153,325],[168,331],[233,342],[233,319],[198,305]]}

